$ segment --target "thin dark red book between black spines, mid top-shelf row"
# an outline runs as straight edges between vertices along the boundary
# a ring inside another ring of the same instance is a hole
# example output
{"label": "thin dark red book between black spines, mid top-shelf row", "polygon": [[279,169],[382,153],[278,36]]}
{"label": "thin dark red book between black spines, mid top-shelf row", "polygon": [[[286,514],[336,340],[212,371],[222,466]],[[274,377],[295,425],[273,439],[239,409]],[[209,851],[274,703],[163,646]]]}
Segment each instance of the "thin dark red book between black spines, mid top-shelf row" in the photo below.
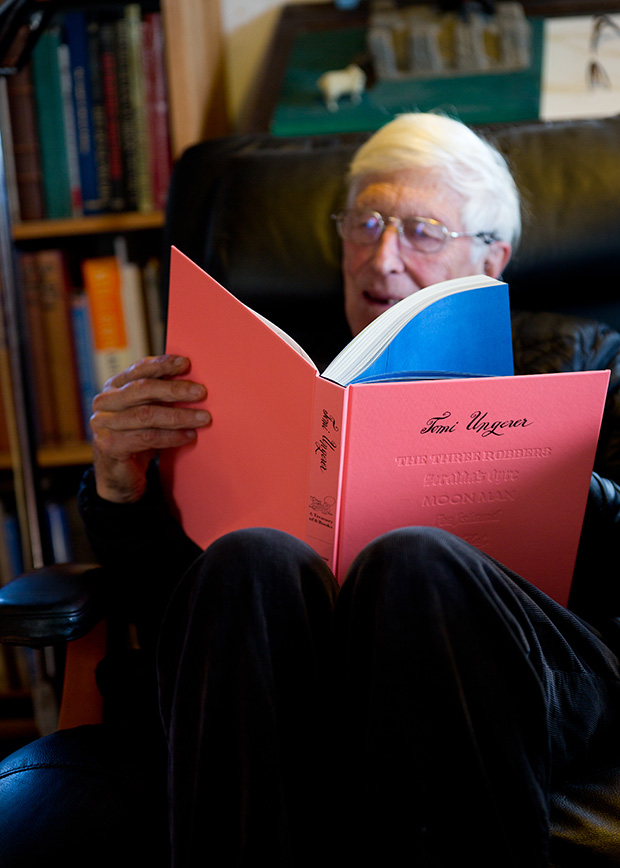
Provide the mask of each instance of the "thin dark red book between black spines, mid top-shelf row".
{"label": "thin dark red book between black spines, mid top-shelf row", "polygon": [[108,150],[109,207],[111,211],[123,211],[128,206],[125,197],[115,44],[114,22],[111,20],[102,21],[99,27],[99,65],[101,67]]}

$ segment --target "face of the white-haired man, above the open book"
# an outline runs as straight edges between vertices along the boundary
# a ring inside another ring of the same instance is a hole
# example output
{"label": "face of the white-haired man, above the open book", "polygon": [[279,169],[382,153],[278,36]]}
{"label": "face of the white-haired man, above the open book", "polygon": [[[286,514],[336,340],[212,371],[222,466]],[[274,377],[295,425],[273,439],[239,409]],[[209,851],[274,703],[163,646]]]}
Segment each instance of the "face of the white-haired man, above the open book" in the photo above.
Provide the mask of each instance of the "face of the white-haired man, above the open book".
{"label": "face of the white-haired man, above the open book", "polygon": [[[423,170],[369,178],[348,202],[349,208],[386,217],[432,217],[451,232],[464,231],[462,205],[462,197],[438,175]],[[485,268],[488,249],[471,238],[454,238],[439,253],[420,253],[401,247],[398,229],[390,224],[375,244],[344,241],[345,313],[351,331],[358,334],[392,304],[433,283],[479,273],[496,277]]]}

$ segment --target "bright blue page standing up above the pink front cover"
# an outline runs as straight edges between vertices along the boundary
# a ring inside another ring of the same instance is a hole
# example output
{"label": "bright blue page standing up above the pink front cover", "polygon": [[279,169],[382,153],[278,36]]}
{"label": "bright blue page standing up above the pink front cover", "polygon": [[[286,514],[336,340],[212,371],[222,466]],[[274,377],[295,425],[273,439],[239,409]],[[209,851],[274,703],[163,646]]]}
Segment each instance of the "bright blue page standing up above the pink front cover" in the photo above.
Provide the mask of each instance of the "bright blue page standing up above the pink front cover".
{"label": "bright blue page standing up above the pink front cover", "polygon": [[408,379],[425,371],[514,374],[508,286],[482,286],[433,302],[351,382],[403,371]]}

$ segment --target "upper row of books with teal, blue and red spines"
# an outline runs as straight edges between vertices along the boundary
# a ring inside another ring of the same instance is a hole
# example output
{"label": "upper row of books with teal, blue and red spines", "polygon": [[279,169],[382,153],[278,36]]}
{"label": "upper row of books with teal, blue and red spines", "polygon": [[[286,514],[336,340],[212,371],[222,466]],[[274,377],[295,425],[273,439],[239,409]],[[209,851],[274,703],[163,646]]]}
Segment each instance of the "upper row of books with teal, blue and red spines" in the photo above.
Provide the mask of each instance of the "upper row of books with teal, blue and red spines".
{"label": "upper row of books with teal, blue and red spines", "polygon": [[2,97],[14,222],[163,208],[171,153],[159,11],[59,14]]}

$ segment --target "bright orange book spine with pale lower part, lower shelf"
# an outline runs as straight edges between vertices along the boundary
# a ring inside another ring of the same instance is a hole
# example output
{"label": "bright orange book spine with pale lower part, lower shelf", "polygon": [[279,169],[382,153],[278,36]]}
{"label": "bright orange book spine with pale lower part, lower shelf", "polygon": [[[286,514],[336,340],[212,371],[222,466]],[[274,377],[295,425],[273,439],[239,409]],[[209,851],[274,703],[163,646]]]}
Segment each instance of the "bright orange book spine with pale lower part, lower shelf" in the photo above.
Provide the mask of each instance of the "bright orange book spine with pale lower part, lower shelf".
{"label": "bright orange book spine with pale lower part, lower shelf", "polygon": [[121,295],[121,273],[115,256],[82,262],[84,289],[90,305],[97,390],[131,362]]}

